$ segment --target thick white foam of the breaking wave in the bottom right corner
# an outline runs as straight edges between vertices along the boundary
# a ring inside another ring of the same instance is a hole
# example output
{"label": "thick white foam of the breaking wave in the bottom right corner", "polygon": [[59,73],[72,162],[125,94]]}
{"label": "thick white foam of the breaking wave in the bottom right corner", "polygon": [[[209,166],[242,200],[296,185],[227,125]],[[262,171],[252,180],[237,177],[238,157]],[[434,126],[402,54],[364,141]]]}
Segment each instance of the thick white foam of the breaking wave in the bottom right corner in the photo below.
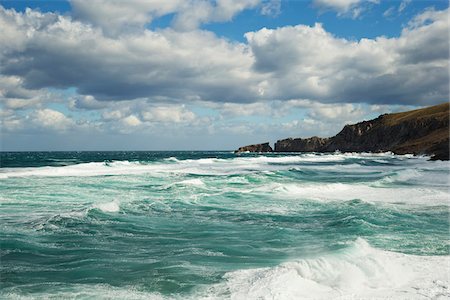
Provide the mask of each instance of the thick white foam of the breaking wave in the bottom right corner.
{"label": "thick white foam of the breaking wave in the bottom right corner", "polygon": [[227,273],[215,293],[231,299],[448,299],[449,264],[449,256],[383,251],[359,238],[335,254]]}

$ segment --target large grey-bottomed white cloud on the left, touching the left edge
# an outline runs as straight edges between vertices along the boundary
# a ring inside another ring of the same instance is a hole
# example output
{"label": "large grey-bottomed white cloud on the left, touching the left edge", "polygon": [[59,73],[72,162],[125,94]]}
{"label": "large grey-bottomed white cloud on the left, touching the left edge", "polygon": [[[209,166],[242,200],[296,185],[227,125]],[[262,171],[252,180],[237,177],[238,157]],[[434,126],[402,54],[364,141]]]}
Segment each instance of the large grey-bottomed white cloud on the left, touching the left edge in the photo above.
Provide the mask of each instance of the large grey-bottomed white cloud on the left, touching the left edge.
{"label": "large grey-bottomed white cloud on the left, touching the left edge", "polygon": [[[48,17],[50,15],[50,17]],[[0,8],[20,46],[4,41],[0,70],[29,89],[76,87],[97,100],[141,97],[250,101],[257,77],[247,47],[206,31],[145,30],[111,38],[69,17]],[[53,20],[43,22],[42,20]],[[26,38],[23,38],[26,36]]]}

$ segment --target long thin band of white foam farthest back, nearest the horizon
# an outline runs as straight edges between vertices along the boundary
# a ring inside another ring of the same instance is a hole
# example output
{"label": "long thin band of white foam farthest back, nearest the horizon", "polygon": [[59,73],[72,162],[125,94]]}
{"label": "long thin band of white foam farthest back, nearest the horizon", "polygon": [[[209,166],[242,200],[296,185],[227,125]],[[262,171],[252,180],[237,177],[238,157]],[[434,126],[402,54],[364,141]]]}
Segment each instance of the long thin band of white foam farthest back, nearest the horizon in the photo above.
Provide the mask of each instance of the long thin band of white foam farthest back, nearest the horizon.
{"label": "long thin band of white foam farthest back, nearest the horizon", "polygon": [[[392,153],[335,153],[335,154],[298,154],[288,156],[257,156],[257,157],[235,157],[229,159],[202,158],[178,160],[174,157],[163,161],[151,163],[113,161],[113,162],[91,162],[63,167],[35,167],[35,168],[1,168],[0,179],[9,177],[63,177],[63,176],[105,176],[105,175],[137,175],[177,173],[177,174],[199,174],[199,175],[229,175],[243,174],[255,171],[286,170],[301,166],[311,167],[310,163],[317,164],[317,168],[336,168],[337,166],[321,165],[328,162],[343,162],[347,159],[380,159],[383,157],[397,157],[406,159],[407,156],[396,156]],[[429,162],[426,158],[412,159],[413,162],[422,163],[427,167]],[[170,162],[170,163],[169,163]],[[309,163],[309,165],[308,165]],[[436,162],[433,162],[436,163]],[[448,164],[435,164],[440,168]],[[341,166],[345,169],[345,165]],[[364,166],[363,166],[364,167]],[[361,168],[360,168],[361,169]]]}

